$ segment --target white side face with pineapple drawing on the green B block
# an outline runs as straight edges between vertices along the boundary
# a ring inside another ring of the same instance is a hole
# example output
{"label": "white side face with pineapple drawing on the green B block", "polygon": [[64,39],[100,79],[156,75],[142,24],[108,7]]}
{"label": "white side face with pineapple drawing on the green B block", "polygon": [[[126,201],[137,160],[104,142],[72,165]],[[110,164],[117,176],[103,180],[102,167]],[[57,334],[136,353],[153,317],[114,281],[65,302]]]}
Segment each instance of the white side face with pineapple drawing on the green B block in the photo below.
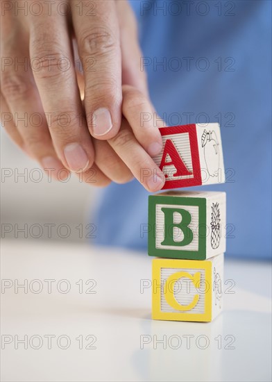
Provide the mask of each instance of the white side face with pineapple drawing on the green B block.
{"label": "white side face with pineapple drawing on the green B block", "polygon": [[226,193],[207,198],[207,258],[226,252]]}

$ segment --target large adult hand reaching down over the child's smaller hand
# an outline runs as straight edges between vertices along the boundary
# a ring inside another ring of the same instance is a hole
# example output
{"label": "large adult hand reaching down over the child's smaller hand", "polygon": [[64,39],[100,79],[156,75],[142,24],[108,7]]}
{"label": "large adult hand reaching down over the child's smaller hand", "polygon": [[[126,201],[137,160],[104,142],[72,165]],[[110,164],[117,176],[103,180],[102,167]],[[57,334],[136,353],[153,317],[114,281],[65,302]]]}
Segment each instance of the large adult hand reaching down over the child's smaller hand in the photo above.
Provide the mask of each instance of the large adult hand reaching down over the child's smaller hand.
{"label": "large adult hand reaching down over the child's smaller hand", "polygon": [[[55,169],[53,176],[63,166],[85,173],[94,165],[94,145],[99,147],[91,135],[97,140],[118,135],[122,83],[147,94],[146,78],[139,70],[136,22],[126,1],[92,1],[90,10],[90,1],[67,0],[62,1],[67,7],[57,12],[58,3],[49,8],[50,2],[40,1],[38,15],[31,3],[10,0],[1,13],[1,109],[12,115],[3,125],[42,167]],[[83,65],[84,108],[73,38]],[[139,132],[137,138],[155,155],[155,142],[157,147],[161,144],[158,129],[147,136]]]}

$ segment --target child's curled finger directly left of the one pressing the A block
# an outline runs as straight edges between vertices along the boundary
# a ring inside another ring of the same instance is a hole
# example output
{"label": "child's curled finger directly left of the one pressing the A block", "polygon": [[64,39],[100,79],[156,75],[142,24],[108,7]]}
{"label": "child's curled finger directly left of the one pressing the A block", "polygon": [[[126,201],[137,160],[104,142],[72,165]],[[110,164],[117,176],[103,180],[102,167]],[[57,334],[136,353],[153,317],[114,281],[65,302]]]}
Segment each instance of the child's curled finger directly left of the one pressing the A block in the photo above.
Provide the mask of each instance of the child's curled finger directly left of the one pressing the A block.
{"label": "child's curled finger directly left of the one pressing the A block", "polygon": [[127,183],[133,179],[133,174],[124,162],[117,156],[108,142],[94,140],[95,163],[101,171],[115,183]]}

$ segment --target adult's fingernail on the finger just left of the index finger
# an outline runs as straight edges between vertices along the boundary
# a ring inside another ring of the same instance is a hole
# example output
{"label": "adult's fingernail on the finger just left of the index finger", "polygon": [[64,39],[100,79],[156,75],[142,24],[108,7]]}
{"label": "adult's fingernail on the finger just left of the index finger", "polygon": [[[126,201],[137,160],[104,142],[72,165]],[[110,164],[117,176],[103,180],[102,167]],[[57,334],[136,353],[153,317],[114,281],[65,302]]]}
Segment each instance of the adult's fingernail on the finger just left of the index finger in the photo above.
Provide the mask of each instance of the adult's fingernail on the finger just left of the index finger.
{"label": "adult's fingernail on the finger just left of the index finger", "polygon": [[65,159],[69,169],[74,172],[85,171],[89,165],[89,159],[84,149],[78,143],[70,143],[64,149]]}

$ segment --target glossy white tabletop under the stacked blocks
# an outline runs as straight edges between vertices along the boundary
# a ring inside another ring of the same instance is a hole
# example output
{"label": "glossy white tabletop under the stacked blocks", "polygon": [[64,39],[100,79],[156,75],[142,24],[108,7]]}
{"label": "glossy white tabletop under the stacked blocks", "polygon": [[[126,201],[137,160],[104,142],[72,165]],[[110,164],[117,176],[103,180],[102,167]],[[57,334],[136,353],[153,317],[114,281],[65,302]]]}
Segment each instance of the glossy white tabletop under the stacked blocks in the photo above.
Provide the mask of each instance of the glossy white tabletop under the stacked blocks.
{"label": "glossy white tabletop under the stacked blocks", "polygon": [[1,381],[271,381],[269,263],[226,256],[208,324],[151,320],[137,252],[3,240],[1,273]]}

